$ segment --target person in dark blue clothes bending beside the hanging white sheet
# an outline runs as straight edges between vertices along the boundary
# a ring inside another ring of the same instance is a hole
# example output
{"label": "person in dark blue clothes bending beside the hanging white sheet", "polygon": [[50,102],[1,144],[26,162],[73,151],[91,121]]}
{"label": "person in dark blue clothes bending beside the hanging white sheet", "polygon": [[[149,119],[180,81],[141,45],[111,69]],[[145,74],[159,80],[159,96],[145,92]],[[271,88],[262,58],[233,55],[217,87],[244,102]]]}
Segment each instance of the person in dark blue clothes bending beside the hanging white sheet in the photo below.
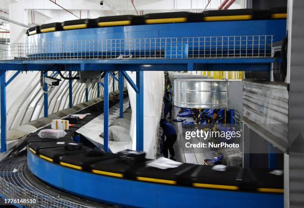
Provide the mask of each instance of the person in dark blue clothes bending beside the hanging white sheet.
{"label": "person in dark blue clothes bending beside the hanging white sheet", "polygon": [[170,152],[170,159],[175,160],[175,153],[173,148],[173,144],[177,138],[175,129],[173,125],[167,122],[165,119],[160,120],[160,127],[162,128],[163,136],[166,136],[162,149],[163,156],[168,158],[168,152]]}

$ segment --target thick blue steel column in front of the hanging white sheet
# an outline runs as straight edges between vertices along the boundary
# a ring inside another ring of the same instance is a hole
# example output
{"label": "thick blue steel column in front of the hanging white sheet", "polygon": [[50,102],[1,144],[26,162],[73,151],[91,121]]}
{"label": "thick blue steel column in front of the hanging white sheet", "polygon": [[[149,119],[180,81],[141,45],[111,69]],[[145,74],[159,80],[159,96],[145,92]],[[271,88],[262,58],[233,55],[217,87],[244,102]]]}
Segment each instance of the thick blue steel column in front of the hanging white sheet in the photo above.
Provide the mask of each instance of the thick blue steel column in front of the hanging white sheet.
{"label": "thick blue steel column in front of the hanging white sheet", "polygon": [[144,71],[136,72],[136,150],[144,151]]}

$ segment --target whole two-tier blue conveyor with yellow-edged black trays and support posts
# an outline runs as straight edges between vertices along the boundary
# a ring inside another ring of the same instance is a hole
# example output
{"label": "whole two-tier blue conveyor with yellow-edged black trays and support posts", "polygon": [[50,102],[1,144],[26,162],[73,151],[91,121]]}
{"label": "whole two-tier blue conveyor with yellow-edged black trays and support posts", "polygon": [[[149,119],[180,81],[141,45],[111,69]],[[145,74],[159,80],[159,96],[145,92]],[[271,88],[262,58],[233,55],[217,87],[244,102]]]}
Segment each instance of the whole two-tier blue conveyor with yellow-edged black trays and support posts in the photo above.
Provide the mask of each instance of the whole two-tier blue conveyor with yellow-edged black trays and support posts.
{"label": "whole two-tier blue conveyor with yellow-edged black trays and support posts", "polygon": [[[6,150],[6,70],[102,70],[105,77],[120,71],[138,94],[137,150],[143,150],[143,71],[268,71],[272,62],[280,61],[271,57],[271,46],[286,35],[286,8],[80,19],[36,26],[27,35],[22,53],[0,61],[2,151]],[[136,71],[136,84],[127,70]],[[103,83],[105,150],[107,80]],[[63,142],[73,142],[71,136]],[[144,163],[120,163],[112,153],[88,157],[85,145],[73,152],[54,141],[36,139],[27,142],[32,173],[51,186],[92,200],[127,207],[284,206],[283,175],[270,170],[228,167],[226,172],[216,172],[187,163],[158,170]]]}

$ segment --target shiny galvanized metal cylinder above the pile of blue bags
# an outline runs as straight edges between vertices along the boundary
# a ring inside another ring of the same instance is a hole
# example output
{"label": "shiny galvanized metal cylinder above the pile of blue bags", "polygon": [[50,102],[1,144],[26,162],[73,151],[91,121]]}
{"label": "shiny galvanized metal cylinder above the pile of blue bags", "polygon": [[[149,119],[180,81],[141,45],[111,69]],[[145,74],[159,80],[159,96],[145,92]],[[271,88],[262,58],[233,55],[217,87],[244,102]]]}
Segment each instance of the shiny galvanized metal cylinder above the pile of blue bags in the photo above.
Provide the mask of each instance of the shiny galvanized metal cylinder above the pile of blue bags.
{"label": "shiny galvanized metal cylinder above the pile of blue bags", "polygon": [[173,78],[173,105],[187,108],[228,108],[228,80]]}

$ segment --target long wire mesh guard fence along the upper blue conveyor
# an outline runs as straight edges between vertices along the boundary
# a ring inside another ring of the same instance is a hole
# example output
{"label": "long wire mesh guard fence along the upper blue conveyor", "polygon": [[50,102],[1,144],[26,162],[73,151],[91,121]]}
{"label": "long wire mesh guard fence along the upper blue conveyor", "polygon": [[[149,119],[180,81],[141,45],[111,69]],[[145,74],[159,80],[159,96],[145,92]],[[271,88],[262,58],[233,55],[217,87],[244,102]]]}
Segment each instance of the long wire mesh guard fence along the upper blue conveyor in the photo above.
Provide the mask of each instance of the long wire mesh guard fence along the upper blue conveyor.
{"label": "long wire mesh guard fence along the upper blue conveyor", "polygon": [[135,38],[0,45],[0,60],[271,57],[273,35]]}

